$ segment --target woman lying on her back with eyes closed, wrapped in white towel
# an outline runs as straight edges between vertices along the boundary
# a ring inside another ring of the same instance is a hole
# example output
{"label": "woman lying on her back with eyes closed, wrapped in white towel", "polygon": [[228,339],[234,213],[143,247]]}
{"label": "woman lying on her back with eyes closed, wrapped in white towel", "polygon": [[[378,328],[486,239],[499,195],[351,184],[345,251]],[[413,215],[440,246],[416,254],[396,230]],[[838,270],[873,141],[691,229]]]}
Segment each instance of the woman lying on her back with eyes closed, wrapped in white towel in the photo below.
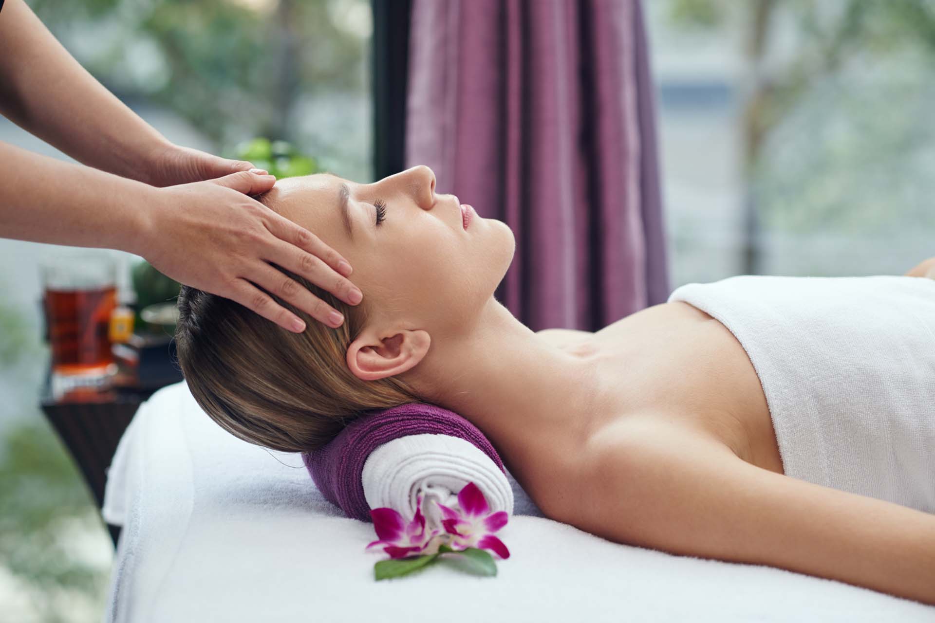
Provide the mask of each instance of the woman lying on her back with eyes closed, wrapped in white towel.
{"label": "woman lying on her back with eyes closed, wrapped in white towel", "polygon": [[261,201],[347,258],[365,297],[293,275],[347,321],[277,296],[307,320],[291,333],[183,288],[180,365],[228,432],[307,451],[367,409],[439,404],[555,520],[935,604],[935,258],[689,284],[597,333],[534,333],[493,295],[510,228],[436,194],[428,167],[283,179]]}

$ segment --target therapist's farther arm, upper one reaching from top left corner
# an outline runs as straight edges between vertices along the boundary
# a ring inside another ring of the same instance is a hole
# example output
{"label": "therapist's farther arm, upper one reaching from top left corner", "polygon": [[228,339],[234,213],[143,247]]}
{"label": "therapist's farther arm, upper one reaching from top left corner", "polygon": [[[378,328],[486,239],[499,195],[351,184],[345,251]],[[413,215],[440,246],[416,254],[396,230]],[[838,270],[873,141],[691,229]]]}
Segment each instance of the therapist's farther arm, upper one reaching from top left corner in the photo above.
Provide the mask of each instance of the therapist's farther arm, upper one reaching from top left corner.
{"label": "therapist's farther arm, upper one reaching from top left corner", "polygon": [[23,0],[7,0],[0,11],[0,114],[79,163],[153,186],[252,167],[167,140],[89,74]]}

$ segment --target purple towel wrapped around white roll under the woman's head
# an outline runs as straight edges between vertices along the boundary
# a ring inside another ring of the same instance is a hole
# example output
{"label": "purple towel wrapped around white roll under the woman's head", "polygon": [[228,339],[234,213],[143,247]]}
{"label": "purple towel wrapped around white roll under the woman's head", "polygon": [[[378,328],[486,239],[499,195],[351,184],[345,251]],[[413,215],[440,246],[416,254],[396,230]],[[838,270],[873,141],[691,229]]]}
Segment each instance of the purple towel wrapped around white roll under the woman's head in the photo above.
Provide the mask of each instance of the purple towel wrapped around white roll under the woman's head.
{"label": "purple towel wrapped around white roll under the woman's head", "polygon": [[370,453],[406,435],[436,433],[460,437],[480,448],[506,473],[503,461],[483,433],[467,419],[435,404],[400,404],[353,420],[331,442],[302,460],[324,497],[348,517],[372,521],[364,497],[364,463]]}

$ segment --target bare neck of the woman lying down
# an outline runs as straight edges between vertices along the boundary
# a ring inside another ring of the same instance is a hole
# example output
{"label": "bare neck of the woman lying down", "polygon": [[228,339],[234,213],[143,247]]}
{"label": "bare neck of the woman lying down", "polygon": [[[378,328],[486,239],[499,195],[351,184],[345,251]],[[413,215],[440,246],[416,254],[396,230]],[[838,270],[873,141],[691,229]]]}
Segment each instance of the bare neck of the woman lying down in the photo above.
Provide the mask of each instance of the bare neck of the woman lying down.
{"label": "bare neck of the woman lying down", "polygon": [[424,400],[477,426],[525,487],[529,461],[564,456],[583,441],[598,396],[593,367],[491,298],[468,331],[434,340],[406,380]]}

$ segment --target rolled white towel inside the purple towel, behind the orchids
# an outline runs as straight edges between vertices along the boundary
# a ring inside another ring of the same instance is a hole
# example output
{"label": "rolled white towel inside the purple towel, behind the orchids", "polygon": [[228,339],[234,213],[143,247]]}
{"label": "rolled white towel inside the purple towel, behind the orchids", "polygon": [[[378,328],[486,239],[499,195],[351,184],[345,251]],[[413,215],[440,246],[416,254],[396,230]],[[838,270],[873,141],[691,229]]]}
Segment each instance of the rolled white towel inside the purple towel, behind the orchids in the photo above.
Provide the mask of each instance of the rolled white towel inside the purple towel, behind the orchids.
{"label": "rolled white towel inside the purple towel, behind the orchids", "polygon": [[456,508],[458,491],[468,482],[481,489],[491,513],[513,515],[513,490],[506,474],[479,447],[451,435],[406,435],[387,442],[367,457],[361,480],[370,508],[389,506],[407,521],[415,517],[423,494],[428,528],[441,528],[435,502]]}

